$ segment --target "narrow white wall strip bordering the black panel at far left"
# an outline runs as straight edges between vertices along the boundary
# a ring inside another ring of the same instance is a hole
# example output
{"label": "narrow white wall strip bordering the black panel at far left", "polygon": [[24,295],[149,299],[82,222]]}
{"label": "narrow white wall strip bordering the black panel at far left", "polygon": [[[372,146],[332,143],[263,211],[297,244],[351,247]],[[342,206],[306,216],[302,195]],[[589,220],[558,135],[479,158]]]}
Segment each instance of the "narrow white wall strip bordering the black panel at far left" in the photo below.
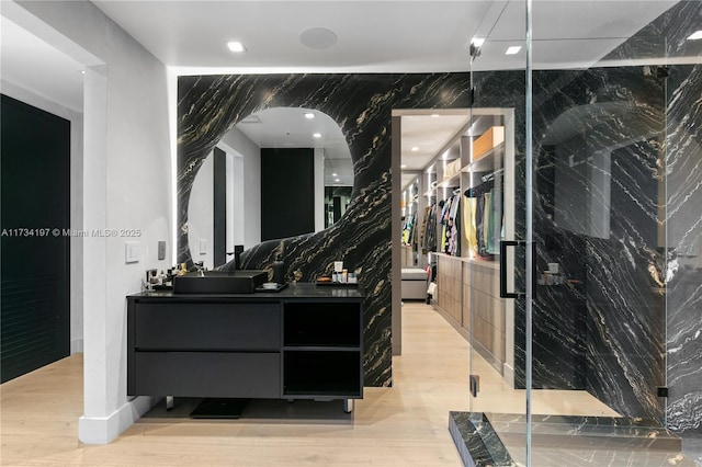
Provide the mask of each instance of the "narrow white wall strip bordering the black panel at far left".
{"label": "narrow white wall strip bordering the black panel at far left", "polygon": [[[83,228],[83,114],[7,81],[2,93],[70,122],[70,228]],[[83,243],[70,239],[70,353],[83,351]]]}

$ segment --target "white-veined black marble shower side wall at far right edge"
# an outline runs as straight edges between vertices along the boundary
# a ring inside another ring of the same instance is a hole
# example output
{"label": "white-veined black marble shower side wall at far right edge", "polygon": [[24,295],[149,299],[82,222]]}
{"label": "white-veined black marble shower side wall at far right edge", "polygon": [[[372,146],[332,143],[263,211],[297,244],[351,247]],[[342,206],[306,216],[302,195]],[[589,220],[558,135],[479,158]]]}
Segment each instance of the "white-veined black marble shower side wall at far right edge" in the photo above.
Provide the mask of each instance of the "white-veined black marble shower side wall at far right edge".
{"label": "white-veined black marble shower side wall at far right edge", "polygon": [[667,425],[702,433],[702,66],[668,78]]}

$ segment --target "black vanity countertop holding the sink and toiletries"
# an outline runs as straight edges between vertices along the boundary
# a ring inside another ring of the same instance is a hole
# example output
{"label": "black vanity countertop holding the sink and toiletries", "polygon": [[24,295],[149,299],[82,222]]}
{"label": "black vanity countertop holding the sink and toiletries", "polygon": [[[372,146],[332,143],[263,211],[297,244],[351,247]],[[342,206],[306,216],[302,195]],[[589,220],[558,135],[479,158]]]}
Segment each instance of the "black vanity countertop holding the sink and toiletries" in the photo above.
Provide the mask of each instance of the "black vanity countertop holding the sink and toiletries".
{"label": "black vanity countertop holding the sink and toiletries", "polygon": [[141,292],[138,294],[129,295],[127,298],[138,298],[139,300],[149,299],[163,299],[167,298],[178,299],[183,301],[190,300],[222,300],[223,298],[231,299],[246,299],[248,300],[262,300],[262,299],[295,299],[295,298],[347,298],[347,299],[363,299],[365,294],[361,287],[348,287],[348,286],[318,286],[314,283],[297,282],[292,283],[287,287],[279,292],[256,292],[253,294],[173,294],[171,291],[160,292]]}

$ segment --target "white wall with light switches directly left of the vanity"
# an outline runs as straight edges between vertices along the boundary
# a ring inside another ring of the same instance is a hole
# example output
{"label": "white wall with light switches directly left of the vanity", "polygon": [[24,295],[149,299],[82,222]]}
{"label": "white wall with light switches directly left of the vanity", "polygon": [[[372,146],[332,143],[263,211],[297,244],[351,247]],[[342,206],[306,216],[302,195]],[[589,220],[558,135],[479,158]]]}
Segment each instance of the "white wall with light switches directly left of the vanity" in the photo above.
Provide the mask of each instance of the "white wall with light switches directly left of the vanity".
{"label": "white wall with light switches directly left of the vanity", "polygon": [[[157,242],[171,239],[173,228],[167,70],[90,2],[3,2],[3,14],[7,3],[18,16],[12,21],[89,65],[83,227],[117,236],[83,239],[84,414],[78,435],[109,443],[151,403],[126,396],[125,296],[139,292],[146,269],[170,265],[157,261]],[[140,235],[120,236],[129,230]],[[125,264],[125,242],[134,240],[139,262]]]}

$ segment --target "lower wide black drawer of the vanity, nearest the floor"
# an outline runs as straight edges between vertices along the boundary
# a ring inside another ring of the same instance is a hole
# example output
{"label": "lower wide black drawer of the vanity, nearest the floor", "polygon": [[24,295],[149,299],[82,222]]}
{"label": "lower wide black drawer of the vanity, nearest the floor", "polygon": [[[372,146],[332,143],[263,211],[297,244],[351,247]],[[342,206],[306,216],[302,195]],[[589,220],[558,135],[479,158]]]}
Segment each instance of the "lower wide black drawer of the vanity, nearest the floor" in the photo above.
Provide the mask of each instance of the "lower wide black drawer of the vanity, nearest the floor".
{"label": "lower wide black drawer of the vanity, nearest the floor", "polygon": [[279,353],[136,352],[131,377],[129,396],[281,397]]}

